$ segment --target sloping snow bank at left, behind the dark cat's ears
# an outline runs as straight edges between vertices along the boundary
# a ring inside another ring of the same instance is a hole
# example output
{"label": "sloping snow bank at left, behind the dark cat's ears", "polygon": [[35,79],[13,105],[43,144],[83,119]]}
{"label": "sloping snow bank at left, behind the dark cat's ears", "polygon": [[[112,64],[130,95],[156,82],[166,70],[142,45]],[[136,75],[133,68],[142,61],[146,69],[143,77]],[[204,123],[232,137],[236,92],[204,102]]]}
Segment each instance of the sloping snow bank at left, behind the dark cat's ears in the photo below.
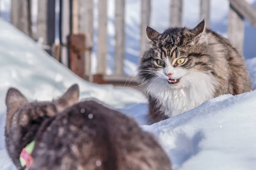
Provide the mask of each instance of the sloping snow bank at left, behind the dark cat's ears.
{"label": "sloping snow bank at left, behind the dark cat's ears", "polygon": [[60,96],[71,84],[79,83],[81,98],[95,97],[115,108],[146,101],[133,88],[96,85],[80,79],[3,20],[0,33],[0,113],[4,111],[3,96],[9,86],[19,88],[29,99],[38,100]]}

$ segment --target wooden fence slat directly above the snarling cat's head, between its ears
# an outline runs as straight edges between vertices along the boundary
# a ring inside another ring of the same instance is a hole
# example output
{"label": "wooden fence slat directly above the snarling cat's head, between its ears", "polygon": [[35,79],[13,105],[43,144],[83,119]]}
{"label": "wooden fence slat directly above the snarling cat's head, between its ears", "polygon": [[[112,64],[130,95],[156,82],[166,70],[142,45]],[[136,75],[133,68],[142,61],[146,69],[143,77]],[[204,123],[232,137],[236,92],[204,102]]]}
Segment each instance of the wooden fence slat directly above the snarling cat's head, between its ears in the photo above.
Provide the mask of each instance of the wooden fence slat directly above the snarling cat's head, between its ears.
{"label": "wooden fence slat directly above the snarling cat's head, between its ears", "polygon": [[170,25],[182,26],[183,0],[171,0]]}

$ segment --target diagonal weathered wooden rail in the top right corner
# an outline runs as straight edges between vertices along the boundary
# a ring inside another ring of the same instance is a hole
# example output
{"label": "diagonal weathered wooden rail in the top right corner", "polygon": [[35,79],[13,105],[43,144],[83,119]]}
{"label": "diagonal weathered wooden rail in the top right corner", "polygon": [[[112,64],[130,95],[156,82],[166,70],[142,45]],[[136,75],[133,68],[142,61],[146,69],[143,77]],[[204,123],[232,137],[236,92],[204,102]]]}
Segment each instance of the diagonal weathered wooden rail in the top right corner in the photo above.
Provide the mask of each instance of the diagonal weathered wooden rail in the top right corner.
{"label": "diagonal weathered wooden rail in the top right corner", "polygon": [[256,28],[256,9],[245,0],[230,0],[230,6]]}

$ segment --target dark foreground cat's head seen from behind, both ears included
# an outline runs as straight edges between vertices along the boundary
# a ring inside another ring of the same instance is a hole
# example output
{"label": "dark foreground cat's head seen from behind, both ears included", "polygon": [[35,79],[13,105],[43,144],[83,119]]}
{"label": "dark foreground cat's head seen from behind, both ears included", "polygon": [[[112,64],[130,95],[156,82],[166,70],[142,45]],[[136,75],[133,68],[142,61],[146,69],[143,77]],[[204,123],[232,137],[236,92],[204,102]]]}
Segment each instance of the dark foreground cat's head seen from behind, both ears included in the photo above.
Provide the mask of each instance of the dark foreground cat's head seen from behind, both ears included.
{"label": "dark foreground cat's head seen from behind, both ears included", "polygon": [[79,86],[72,85],[61,97],[51,102],[29,102],[16,88],[6,93],[6,147],[14,163],[20,151],[33,140],[44,119],[79,102]]}

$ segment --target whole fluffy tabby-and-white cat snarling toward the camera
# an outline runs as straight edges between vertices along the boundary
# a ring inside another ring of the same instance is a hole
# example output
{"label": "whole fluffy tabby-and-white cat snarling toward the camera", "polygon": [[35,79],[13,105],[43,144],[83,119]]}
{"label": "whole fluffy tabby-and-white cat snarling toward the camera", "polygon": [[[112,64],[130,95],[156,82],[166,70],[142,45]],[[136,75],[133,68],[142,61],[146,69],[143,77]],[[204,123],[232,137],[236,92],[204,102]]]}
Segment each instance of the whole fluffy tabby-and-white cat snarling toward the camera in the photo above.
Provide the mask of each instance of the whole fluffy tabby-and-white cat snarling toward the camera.
{"label": "whole fluffy tabby-and-white cat snarling toward the camera", "polygon": [[208,28],[147,27],[149,47],[137,76],[149,99],[149,116],[159,122],[221,94],[252,90],[244,58],[230,42]]}

